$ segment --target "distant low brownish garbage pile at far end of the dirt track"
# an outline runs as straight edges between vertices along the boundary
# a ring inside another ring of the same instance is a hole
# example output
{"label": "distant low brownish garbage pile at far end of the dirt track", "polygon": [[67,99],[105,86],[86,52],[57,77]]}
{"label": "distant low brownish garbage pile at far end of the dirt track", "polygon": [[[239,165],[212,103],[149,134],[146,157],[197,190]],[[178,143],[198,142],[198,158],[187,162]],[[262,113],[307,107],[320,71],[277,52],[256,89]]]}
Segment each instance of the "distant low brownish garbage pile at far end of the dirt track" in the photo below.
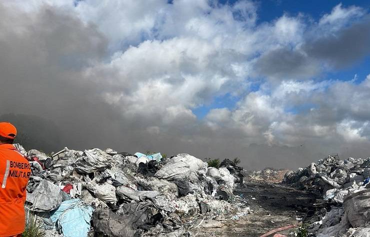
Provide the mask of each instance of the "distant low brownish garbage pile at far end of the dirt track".
{"label": "distant low brownish garbage pile at far end of the dirt track", "polygon": [[264,168],[259,171],[244,172],[244,180],[257,183],[276,184],[280,183],[288,170]]}

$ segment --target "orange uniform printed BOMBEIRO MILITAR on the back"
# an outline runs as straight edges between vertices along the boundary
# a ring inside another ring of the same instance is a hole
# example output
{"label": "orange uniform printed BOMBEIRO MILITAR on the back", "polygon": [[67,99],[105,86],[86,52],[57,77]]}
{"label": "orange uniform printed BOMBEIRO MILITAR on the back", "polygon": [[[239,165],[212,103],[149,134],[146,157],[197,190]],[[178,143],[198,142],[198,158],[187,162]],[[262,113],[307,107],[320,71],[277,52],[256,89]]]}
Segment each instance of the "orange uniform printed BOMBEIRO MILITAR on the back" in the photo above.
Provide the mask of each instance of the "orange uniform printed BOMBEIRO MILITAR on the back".
{"label": "orange uniform printed BOMBEIRO MILITAR on the back", "polygon": [[28,161],[11,144],[0,144],[0,237],[24,231]]}

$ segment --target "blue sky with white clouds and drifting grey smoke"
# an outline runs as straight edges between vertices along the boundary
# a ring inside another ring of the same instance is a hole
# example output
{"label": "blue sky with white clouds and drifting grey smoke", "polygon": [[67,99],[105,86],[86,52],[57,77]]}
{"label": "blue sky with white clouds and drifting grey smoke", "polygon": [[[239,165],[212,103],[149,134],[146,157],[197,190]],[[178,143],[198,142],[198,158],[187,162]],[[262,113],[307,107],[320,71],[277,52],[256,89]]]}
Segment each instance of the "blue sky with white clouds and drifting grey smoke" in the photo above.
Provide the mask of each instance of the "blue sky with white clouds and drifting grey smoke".
{"label": "blue sky with white clouds and drifting grey smoke", "polygon": [[0,113],[53,121],[60,149],[239,157],[245,169],[368,157],[369,9],[1,1]]}

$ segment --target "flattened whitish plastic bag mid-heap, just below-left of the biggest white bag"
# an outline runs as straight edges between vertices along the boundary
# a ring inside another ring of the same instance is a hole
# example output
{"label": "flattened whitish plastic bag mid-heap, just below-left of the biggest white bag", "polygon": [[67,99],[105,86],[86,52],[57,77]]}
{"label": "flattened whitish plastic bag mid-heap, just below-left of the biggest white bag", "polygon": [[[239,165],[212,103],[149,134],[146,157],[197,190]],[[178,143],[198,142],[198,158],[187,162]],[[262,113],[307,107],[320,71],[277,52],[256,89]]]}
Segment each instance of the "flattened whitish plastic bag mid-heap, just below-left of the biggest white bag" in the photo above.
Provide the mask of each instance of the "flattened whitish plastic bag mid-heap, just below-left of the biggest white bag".
{"label": "flattened whitish plastic bag mid-heap, just below-left of the biggest white bag", "polygon": [[145,179],[137,177],[136,183],[144,191],[159,191],[161,194],[169,192],[178,196],[177,186],[166,180],[160,180],[155,177],[147,177]]}

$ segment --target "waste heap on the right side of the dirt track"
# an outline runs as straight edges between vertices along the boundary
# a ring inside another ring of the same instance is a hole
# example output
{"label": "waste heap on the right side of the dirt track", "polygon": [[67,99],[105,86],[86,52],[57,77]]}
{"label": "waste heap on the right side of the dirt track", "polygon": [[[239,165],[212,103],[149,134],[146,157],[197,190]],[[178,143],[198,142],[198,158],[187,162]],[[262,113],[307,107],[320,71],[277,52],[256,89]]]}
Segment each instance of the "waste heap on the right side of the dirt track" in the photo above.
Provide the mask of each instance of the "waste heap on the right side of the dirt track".
{"label": "waste heap on the right side of the dirt track", "polygon": [[370,158],[338,156],[288,171],[282,183],[322,194],[306,221],[312,236],[370,236]]}

